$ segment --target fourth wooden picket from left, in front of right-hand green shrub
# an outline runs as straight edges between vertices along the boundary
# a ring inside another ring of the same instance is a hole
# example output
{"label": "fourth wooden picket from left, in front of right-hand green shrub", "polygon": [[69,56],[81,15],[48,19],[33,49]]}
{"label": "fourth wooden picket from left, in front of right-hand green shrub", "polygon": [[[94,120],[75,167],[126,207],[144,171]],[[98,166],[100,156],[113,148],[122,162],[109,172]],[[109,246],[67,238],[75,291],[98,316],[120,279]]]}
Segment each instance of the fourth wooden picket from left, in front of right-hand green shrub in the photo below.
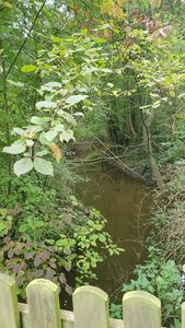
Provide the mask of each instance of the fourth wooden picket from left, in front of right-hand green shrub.
{"label": "fourth wooden picket from left, in front of right-hand green shrub", "polygon": [[147,292],[126,293],[123,312],[124,328],[161,328],[161,302]]}

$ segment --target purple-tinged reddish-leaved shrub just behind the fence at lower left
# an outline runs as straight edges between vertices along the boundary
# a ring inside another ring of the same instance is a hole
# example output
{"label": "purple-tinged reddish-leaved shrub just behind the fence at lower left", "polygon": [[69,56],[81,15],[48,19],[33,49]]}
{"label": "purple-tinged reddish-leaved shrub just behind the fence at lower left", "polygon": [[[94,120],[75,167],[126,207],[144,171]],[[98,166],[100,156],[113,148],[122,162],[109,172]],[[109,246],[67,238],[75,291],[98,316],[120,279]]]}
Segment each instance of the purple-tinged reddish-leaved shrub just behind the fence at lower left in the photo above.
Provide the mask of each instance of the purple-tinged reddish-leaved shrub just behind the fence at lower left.
{"label": "purple-tinged reddish-leaved shrub just behind the fence at lower left", "polygon": [[[1,241],[0,269],[12,276],[18,285],[18,292],[25,297],[27,283],[35,278],[46,278],[65,288],[71,294],[65,270],[60,268],[60,256],[55,248],[45,242],[12,241],[9,236]],[[69,271],[66,266],[66,271]]]}

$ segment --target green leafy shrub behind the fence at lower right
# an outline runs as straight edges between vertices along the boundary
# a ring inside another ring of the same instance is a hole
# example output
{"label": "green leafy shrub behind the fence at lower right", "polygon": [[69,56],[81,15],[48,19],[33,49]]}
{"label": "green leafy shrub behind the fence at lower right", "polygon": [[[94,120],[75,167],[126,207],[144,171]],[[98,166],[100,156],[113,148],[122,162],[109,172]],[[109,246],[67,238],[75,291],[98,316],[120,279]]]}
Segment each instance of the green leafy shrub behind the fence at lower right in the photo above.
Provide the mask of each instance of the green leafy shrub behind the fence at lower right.
{"label": "green leafy shrub behind the fence at lower right", "polygon": [[[183,286],[181,286],[181,271],[173,260],[162,257],[161,249],[149,247],[149,257],[144,265],[135,269],[136,280],[124,284],[123,291],[143,290],[152,293],[162,303],[162,318],[171,324],[181,317],[181,305],[184,300]],[[177,326],[176,326],[177,327]]]}

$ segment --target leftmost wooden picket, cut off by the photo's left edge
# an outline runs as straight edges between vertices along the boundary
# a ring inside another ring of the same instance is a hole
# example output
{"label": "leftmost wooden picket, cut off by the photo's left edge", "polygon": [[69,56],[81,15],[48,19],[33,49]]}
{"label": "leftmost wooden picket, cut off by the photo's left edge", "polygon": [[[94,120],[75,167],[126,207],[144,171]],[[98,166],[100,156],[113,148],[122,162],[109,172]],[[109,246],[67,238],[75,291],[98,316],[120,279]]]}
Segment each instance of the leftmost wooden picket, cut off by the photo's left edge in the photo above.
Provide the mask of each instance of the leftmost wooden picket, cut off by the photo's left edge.
{"label": "leftmost wooden picket, cut off by the photo's left edge", "polygon": [[0,274],[0,327],[21,327],[15,282],[11,277],[3,273]]}

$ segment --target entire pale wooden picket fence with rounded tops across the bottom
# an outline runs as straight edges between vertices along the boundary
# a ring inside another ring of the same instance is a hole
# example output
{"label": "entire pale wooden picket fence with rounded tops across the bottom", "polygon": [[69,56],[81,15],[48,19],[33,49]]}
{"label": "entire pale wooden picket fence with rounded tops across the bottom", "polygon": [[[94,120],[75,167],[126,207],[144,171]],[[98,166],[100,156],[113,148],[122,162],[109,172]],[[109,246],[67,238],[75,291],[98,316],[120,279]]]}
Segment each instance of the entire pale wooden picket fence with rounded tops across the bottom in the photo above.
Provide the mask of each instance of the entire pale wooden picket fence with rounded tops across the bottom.
{"label": "entire pale wooden picket fence with rounded tops across the bottom", "polygon": [[95,286],[74,291],[73,313],[60,309],[59,289],[48,280],[33,280],[26,293],[27,304],[18,303],[14,280],[0,274],[0,328],[161,328],[161,303],[147,292],[124,295],[123,320],[109,319],[108,296]]}

